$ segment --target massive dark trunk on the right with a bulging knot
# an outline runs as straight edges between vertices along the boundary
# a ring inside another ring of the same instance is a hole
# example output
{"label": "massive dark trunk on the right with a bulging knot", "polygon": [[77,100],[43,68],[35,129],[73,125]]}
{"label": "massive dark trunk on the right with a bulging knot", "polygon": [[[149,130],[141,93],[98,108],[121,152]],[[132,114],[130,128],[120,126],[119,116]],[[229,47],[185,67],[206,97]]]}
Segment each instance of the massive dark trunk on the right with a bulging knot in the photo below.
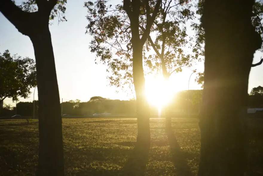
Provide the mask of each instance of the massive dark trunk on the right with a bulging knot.
{"label": "massive dark trunk on the right with a bulging knot", "polygon": [[253,0],[205,1],[199,176],[241,176],[247,165],[248,78],[262,40],[251,25]]}

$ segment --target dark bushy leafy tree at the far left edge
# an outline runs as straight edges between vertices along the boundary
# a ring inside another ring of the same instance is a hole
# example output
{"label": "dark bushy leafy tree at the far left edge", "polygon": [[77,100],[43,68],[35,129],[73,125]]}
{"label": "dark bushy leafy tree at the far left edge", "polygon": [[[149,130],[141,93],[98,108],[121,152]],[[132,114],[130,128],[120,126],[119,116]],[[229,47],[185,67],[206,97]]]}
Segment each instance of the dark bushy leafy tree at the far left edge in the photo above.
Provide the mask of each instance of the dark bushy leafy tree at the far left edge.
{"label": "dark bushy leafy tree at the far left edge", "polygon": [[0,53],[0,101],[5,98],[28,98],[30,89],[36,86],[36,64],[28,57],[11,56],[6,50]]}

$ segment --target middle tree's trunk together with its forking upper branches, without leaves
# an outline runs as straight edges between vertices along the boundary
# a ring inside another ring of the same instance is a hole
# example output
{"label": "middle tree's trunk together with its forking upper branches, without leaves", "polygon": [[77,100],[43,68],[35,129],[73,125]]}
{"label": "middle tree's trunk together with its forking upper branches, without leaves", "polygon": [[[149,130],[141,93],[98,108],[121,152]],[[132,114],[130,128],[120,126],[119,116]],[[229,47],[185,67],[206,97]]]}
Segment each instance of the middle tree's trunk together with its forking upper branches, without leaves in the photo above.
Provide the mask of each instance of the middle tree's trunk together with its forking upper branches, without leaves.
{"label": "middle tree's trunk together with its forking upper branches, without leaves", "polygon": [[143,72],[143,45],[150,34],[150,29],[155,20],[161,0],[156,1],[153,12],[150,11],[149,1],[143,1],[146,8],[146,27],[143,34],[140,34],[139,15],[141,13],[142,2],[140,0],[123,0],[123,9],[127,13],[131,22],[131,43],[132,43],[132,74],[133,84],[136,93],[136,111],[137,111],[137,145],[141,147],[150,147],[150,110],[149,103],[145,95],[145,78]]}

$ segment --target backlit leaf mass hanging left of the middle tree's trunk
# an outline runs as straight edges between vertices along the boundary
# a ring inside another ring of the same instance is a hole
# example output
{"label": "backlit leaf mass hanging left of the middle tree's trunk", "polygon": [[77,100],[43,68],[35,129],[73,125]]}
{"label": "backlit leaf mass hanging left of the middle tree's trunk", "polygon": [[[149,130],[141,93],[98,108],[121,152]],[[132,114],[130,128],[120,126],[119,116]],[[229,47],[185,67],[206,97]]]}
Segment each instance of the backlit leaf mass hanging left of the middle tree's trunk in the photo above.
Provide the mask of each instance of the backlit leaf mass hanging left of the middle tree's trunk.
{"label": "backlit leaf mass hanging left of the middle tree's trunk", "polygon": [[89,48],[96,53],[95,63],[108,66],[107,71],[112,74],[108,76],[110,85],[122,87],[131,83],[131,29],[123,6],[113,7],[108,1],[96,0],[85,2],[84,7],[88,9],[86,33],[93,36]]}

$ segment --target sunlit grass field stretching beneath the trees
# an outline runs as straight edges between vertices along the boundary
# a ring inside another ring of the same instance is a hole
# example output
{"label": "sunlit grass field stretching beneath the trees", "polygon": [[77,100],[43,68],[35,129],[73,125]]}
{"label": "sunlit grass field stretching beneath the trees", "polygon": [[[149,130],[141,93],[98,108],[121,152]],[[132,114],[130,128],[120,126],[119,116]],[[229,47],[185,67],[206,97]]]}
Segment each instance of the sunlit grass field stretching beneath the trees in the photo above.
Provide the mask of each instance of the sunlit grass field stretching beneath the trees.
{"label": "sunlit grass field stretching beneath the trees", "polygon": [[[151,119],[151,148],[134,148],[136,119],[63,119],[65,175],[197,174],[198,119]],[[263,122],[250,119],[252,169],[263,168]],[[34,175],[38,158],[38,122],[0,120],[0,175]]]}

